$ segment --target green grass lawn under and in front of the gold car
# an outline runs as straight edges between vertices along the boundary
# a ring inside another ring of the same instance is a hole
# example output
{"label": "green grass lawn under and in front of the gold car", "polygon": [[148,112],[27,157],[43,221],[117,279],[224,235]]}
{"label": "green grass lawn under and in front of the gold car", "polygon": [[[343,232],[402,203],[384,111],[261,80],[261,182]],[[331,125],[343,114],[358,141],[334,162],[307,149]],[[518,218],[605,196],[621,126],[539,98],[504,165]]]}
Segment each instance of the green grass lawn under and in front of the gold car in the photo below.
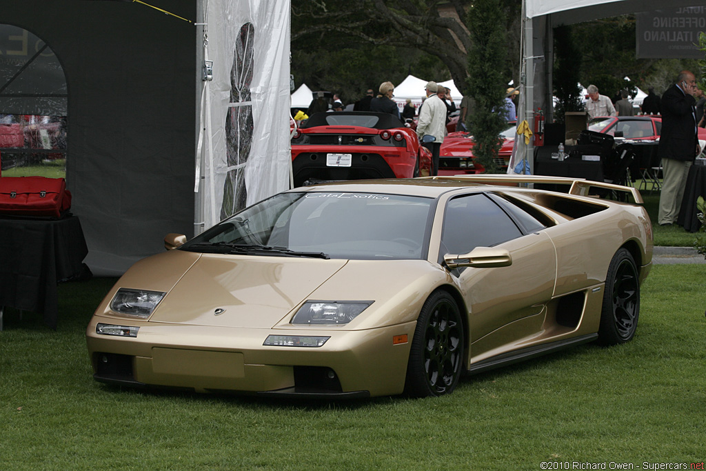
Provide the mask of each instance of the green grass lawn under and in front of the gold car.
{"label": "green grass lawn under and in front of the gold car", "polygon": [[6,311],[0,470],[540,470],[546,461],[636,468],[645,461],[700,463],[706,458],[705,279],[703,265],[654,266],[642,287],[638,333],[626,345],[583,345],[463,378],[448,397],[352,403],[97,383],[84,330],[114,280],[62,284],[56,332],[38,314],[20,319],[17,311]]}

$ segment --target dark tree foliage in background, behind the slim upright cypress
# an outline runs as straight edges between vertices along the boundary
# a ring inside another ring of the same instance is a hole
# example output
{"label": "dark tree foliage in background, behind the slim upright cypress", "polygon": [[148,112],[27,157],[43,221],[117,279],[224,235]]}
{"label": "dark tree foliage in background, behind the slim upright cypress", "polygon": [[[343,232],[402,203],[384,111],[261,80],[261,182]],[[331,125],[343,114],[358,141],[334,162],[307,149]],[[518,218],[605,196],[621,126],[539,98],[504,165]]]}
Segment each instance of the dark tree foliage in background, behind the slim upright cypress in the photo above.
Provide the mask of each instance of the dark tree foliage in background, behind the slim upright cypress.
{"label": "dark tree foliage in background, behind the slim upright cypress", "polygon": [[[299,52],[359,49],[365,45],[414,50],[443,64],[429,79],[439,80],[443,75],[439,69],[445,69],[460,91],[467,93],[467,52],[472,40],[462,18],[472,4],[471,0],[292,0],[292,59]],[[508,13],[505,18],[510,20],[503,18],[505,23],[499,26],[504,28],[508,44],[513,44],[508,49],[510,55],[505,54],[500,64],[504,83],[511,78],[518,80],[521,5],[521,0],[501,0],[501,8]],[[405,59],[402,56],[402,61]],[[371,57],[371,63],[374,60]],[[388,71],[397,67],[395,73],[421,76],[419,72],[427,72],[412,68],[420,64],[421,58],[407,63],[407,68],[388,64]]]}

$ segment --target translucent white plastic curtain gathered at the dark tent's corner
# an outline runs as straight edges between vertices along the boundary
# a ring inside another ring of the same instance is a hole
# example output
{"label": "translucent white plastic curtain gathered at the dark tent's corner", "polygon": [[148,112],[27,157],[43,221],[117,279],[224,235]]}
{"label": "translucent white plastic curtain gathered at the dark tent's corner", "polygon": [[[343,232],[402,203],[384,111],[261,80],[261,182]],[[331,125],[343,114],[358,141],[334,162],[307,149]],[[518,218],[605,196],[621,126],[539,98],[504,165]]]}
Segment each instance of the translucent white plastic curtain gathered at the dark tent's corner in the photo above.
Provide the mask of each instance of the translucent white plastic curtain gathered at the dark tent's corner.
{"label": "translucent white plastic curtain gathered at the dark tent's corner", "polygon": [[203,83],[195,234],[288,189],[291,160],[289,0],[201,2],[213,81]]}

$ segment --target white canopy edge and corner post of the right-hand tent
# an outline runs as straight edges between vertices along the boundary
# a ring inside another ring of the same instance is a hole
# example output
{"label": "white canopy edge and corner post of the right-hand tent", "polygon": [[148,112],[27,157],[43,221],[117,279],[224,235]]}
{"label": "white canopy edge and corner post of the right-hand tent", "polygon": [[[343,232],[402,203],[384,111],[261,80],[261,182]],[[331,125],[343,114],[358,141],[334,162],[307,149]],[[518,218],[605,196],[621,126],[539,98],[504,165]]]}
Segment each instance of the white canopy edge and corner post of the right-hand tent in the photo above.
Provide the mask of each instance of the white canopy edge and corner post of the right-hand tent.
{"label": "white canopy edge and corner post of the right-hand tent", "polygon": [[[524,35],[520,64],[522,88],[518,118],[524,117],[530,124],[530,129],[533,130],[534,116],[538,109],[544,110],[548,122],[553,120],[552,107],[547,104],[553,101],[551,87],[554,72],[553,30],[557,26],[626,13],[696,4],[698,4],[696,0],[523,0]],[[516,141],[522,141],[521,144],[524,147],[523,140]],[[530,162],[530,168],[534,170],[532,141],[518,154],[525,155]],[[515,159],[511,164],[514,162]]]}

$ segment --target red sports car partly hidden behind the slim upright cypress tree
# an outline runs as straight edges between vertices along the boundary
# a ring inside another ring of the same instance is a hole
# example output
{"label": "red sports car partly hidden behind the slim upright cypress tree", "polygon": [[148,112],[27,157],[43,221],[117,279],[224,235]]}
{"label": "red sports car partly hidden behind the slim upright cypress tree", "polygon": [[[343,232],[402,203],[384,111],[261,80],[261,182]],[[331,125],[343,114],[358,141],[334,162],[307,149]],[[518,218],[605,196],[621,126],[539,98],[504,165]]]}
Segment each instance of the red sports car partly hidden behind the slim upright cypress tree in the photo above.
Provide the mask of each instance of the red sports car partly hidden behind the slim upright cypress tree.
{"label": "red sports car partly hidden behind the slim upright cypress tree", "polygon": [[[515,143],[515,123],[508,123],[505,131],[501,132],[503,145],[496,157],[496,163],[501,172],[506,172],[510,163]],[[441,144],[439,151],[439,174],[479,174],[484,172],[482,167],[473,157],[473,141],[469,133],[458,131],[449,133]]]}

